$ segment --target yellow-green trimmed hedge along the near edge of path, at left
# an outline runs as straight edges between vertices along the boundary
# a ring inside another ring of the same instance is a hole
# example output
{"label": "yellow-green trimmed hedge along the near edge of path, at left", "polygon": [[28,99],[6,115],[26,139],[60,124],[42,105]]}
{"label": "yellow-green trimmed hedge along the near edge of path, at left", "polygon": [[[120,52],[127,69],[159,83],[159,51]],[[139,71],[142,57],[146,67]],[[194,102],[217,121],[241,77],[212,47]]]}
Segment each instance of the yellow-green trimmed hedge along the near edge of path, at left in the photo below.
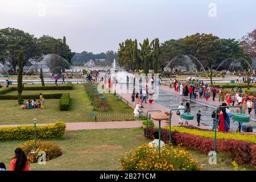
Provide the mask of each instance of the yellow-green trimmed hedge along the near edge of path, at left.
{"label": "yellow-green trimmed hedge along the near edge of path, at left", "polygon": [[[65,134],[66,124],[64,122],[55,122],[54,125],[36,127],[37,138],[55,138],[62,137]],[[0,127],[0,140],[6,139],[32,139],[34,138],[35,127],[18,126],[18,127]]]}

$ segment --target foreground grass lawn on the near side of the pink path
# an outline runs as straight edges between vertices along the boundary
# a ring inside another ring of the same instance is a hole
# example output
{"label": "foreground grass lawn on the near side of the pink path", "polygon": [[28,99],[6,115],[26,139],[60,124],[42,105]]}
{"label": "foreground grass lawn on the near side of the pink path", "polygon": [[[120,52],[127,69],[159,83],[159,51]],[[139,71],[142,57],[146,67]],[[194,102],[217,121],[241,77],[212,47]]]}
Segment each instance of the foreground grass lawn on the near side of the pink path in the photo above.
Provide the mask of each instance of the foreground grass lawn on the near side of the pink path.
{"label": "foreground grass lawn on the near side of the pink path", "polygon": [[[67,131],[65,137],[48,139],[63,150],[59,158],[46,162],[46,165],[31,164],[32,170],[120,170],[120,155],[150,142],[143,137],[143,129],[109,129]],[[0,161],[9,168],[15,147],[25,140],[0,141]],[[189,150],[204,170],[232,170],[232,160],[218,154],[217,165],[209,165],[209,157]]]}

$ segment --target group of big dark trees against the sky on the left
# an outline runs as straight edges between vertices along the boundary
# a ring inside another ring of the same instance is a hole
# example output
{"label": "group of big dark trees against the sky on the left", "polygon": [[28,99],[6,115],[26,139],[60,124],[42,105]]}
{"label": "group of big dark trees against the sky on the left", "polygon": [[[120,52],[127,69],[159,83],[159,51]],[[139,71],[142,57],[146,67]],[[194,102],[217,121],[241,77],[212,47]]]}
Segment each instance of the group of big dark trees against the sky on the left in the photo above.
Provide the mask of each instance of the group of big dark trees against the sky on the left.
{"label": "group of big dark trees against the sky on the left", "polygon": [[0,29],[0,63],[11,65],[14,73],[16,73],[20,49],[23,50],[23,67],[30,66],[32,61],[49,53],[56,53],[69,63],[75,55],[66,44],[65,36],[63,39],[55,39],[49,35],[36,38],[17,28]]}

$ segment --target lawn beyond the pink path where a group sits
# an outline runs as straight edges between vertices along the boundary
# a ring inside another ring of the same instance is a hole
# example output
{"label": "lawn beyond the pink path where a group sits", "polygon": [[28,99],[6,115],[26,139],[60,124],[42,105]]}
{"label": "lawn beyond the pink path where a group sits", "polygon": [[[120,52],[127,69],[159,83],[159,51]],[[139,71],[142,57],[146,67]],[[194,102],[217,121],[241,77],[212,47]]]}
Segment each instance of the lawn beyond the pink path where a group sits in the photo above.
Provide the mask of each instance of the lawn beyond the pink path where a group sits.
{"label": "lawn beyond the pink path where a group sits", "polygon": [[[38,94],[36,102],[39,100],[39,93],[71,93],[71,106],[68,111],[60,111],[59,99],[46,99],[45,109],[22,110],[16,100],[0,100],[0,125],[29,124],[32,119],[38,119],[38,123],[64,122],[92,122],[94,117],[90,113],[98,114],[102,112],[93,111],[93,105],[85,92],[84,85],[73,85],[73,90],[24,90],[23,94]],[[17,94],[12,91],[7,94]],[[6,94],[6,95],[7,95]],[[122,101],[116,101],[113,94],[104,94],[110,105],[110,110],[104,113],[133,113],[131,107],[126,108]],[[27,101],[27,100],[26,100]]]}

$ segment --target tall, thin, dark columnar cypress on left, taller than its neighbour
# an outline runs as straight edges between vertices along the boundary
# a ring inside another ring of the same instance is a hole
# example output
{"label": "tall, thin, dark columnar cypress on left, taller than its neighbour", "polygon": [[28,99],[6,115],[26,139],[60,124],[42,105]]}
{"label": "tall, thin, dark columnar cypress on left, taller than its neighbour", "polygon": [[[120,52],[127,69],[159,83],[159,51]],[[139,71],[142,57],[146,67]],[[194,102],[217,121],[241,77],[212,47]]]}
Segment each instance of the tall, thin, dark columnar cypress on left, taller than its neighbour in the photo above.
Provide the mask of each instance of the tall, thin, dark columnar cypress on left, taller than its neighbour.
{"label": "tall, thin, dark columnar cypress on left, taller than its neighbour", "polygon": [[22,91],[23,91],[23,86],[22,86],[22,72],[23,72],[23,50],[20,49],[19,55],[18,55],[18,103],[21,105],[22,104]]}

